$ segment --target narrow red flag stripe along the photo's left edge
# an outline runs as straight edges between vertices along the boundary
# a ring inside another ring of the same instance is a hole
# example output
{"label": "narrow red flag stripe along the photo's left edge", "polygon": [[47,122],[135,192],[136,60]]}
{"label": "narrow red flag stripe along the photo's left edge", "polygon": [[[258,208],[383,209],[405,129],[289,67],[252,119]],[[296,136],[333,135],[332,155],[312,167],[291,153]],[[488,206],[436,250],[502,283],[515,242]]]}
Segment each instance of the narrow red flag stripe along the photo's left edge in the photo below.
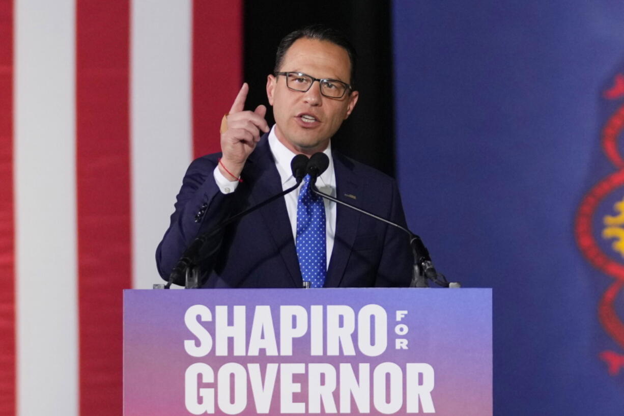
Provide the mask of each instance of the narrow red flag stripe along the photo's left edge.
{"label": "narrow red flag stripe along the photo's left edge", "polygon": [[0,416],[15,414],[13,2],[0,1]]}

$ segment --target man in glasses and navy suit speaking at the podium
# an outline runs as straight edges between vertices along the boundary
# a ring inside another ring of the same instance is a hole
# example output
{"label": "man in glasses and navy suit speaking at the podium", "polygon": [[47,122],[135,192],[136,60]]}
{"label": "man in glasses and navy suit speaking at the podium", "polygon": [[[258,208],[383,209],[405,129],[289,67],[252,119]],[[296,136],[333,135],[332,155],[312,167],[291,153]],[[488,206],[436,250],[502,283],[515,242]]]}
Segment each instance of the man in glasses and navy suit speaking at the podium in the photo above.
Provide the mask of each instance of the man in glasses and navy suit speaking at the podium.
{"label": "man in glasses and navy suit speaking at the podium", "polygon": [[[164,279],[198,235],[294,186],[290,162],[296,154],[329,157],[316,182],[320,191],[405,224],[394,180],[331,149],[331,137],[358,102],[354,65],[353,47],[333,29],[310,26],[282,39],[266,82],[275,126],[266,123],[265,106],[243,110],[243,84],[222,126],[222,153],[195,160],[184,177],[156,253]],[[407,235],[311,194],[308,178],[208,244],[211,255],[199,265],[205,287],[409,285]]]}

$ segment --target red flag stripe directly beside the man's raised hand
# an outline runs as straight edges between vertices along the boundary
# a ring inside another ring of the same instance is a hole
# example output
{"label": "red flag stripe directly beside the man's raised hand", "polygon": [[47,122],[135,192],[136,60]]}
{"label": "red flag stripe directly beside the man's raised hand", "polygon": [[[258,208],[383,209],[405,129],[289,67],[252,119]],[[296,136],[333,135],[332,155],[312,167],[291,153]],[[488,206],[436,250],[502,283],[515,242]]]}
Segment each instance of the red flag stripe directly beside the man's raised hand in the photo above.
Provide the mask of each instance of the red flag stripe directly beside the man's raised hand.
{"label": "red flag stripe directly beside the man's raised hand", "polygon": [[241,0],[193,1],[193,155],[221,150],[219,127],[243,78]]}

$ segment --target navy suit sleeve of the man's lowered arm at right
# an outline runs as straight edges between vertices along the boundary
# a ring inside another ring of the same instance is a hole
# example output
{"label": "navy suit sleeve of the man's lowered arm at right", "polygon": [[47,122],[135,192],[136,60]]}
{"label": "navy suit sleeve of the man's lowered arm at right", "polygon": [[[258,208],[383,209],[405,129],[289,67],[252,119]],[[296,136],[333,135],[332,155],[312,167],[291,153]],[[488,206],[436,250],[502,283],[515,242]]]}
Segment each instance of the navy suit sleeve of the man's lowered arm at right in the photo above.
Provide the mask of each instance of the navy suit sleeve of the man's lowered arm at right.
{"label": "navy suit sleeve of the man's lowered arm at right", "polygon": [[[392,197],[389,220],[407,227],[401,196],[392,180]],[[384,236],[383,254],[379,262],[376,287],[409,287],[412,277],[412,252],[409,246],[409,235],[403,230],[388,225]]]}

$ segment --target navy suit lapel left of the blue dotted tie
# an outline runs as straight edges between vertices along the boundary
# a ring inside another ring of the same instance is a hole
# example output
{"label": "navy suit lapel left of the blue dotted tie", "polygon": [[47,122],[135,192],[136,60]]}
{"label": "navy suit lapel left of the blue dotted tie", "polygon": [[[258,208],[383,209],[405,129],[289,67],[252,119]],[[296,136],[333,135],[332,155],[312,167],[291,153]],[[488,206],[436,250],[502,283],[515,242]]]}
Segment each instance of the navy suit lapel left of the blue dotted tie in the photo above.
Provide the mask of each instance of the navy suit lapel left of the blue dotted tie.
{"label": "navy suit lapel left of the blue dotted tie", "polygon": [[[250,179],[250,205],[265,201],[282,191],[280,174],[275,167],[273,154],[268,145],[268,134],[262,137],[258,146],[245,165]],[[243,178],[246,180],[246,178]],[[271,242],[286,266],[286,270],[293,280],[294,287],[301,287],[303,279],[299,269],[299,260],[293,240],[293,230],[288,219],[288,211],[283,198],[277,199],[260,208],[260,213],[266,223]],[[276,270],[278,272],[278,270]]]}

